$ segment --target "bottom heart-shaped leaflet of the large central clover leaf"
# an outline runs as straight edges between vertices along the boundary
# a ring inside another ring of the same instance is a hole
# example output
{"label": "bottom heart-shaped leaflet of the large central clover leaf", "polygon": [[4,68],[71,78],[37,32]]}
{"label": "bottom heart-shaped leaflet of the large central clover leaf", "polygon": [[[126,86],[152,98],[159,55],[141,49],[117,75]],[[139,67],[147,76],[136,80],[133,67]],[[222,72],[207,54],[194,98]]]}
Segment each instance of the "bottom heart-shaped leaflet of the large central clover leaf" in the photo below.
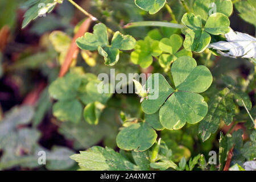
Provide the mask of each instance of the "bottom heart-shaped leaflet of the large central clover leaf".
{"label": "bottom heart-shaped leaflet of the large central clover leaf", "polygon": [[207,103],[200,94],[175,92],[161,107],[159,117],[166,129],[180,129],[186,122],[200,122],[207,114],[207,110]]}

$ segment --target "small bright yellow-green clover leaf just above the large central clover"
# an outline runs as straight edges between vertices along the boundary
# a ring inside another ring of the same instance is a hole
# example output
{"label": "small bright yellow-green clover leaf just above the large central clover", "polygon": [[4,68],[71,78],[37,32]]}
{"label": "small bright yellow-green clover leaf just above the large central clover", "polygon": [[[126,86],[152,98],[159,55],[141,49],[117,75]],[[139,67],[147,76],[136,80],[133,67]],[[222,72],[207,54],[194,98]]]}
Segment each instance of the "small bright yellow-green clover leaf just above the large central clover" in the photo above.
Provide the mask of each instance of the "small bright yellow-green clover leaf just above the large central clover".
{"label": "small bright yellow-green clover leaf just above the large central clover", "polygon": [[[163,38],[162,40],[160,40],[159,48],[163,52],[169,53],[169,54],[163,53],[159,57],[160,66],[162,68],[166,68],[166,71],[168,71],[168,69],[170,69],[171,63],[173,61],[175,61],[178,57],[181,57],[181,56],[192,57],[191,51],[187,51],[186,49],[181,49],[179,51],[179,49],[181,48],[182,45],[183,45],[183,38],[177,34],[171,35],[169,39]],[[177,52],[177,51],[179,51],[179,52]]]}

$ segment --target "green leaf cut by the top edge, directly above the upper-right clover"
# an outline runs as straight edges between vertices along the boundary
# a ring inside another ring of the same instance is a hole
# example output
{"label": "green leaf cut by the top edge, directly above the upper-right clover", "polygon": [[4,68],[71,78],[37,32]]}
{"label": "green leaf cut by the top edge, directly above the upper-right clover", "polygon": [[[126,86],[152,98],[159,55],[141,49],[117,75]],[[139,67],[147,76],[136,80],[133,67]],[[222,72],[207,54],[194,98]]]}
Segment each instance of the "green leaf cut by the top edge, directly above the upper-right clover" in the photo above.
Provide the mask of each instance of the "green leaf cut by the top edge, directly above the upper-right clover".
{"label": "green leaf cut by the top edge, directly above the upper-right clover", "polygon": [[213,13],[230,16],[233,11],[233,3],[231,0],[195,0],[193,10],[196,15],[200,15],[204,20],[207,20],[209,14]]}

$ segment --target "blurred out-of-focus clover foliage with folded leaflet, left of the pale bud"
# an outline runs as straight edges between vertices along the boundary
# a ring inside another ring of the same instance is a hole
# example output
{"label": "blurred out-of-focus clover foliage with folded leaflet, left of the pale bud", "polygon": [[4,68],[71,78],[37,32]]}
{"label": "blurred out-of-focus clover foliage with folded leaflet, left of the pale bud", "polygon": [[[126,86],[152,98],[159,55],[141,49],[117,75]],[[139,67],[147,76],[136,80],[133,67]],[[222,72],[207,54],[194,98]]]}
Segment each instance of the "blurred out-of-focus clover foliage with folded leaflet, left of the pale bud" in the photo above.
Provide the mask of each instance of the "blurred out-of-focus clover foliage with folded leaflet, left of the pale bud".
{"label": "blurred out-of-focus clover foliage with folded leaflet, left of the pale bud", "polygon": [[[112,96],[110,93],[98,93],[96,76],[86,73],[68,73],[58,78],[49,86],[49,94],[58,100],[53,105],[53,115],[60,121],[79,122],[82,115],[82,104],[85,121],[97,125],[101,111],[106,101]],[[102,85],[109,86],[109,84]],[[82,103],[81,103],[82,102]]]}

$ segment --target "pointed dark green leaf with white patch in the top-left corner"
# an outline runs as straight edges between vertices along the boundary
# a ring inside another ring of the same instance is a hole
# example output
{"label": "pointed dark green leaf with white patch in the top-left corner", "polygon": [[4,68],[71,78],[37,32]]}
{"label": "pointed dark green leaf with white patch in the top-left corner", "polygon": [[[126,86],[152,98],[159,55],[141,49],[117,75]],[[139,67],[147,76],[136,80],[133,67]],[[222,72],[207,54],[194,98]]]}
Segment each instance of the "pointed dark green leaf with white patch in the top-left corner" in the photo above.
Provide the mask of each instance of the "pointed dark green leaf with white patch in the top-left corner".
{"label": "pointed dark green leaf with white patch in the top-left corner", "polygon": [[[32,20],[43,16],[46,13],[51,13],[57,3],[62,3],[63,0],[29,0],[22,5],[22,8],[29,8],[24,14],[22,28],[25,28]],[[43,6],[42,6],[43,5]]]}

